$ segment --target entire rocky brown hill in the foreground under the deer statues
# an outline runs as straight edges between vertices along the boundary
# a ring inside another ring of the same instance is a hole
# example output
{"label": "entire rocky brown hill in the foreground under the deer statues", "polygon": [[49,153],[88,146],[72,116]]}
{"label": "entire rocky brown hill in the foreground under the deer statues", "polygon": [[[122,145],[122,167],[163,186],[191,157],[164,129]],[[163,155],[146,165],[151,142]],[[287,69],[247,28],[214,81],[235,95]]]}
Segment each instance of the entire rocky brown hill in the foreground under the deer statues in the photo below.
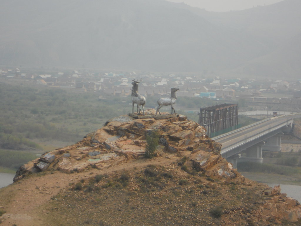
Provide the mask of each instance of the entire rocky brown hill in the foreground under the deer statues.
{"label": "entire rocky brown hill in the foreground under the deer statues", "polygon": [[[301,206],[248,180],[184,115],[129,114],[20,167],[0,190],[2,225],[288,225]],[[145,158],[156,131],[155,157]]]}

